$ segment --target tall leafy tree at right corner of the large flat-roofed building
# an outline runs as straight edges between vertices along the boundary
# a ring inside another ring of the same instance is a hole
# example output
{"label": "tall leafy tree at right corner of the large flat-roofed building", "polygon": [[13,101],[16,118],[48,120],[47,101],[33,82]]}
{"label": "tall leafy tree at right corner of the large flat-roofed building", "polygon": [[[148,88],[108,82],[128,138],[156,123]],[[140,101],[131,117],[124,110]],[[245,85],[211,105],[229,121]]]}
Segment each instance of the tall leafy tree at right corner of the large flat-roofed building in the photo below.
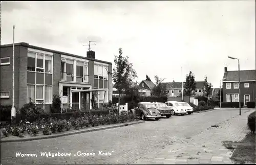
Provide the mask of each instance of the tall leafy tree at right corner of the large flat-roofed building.
{"label": "tall leafy tree at right corner of the large flat-roofed building", "polygon": [[122,48],[119,48],[119,55],[115,55],[113,73],[108,72],[108,74],[112,76],[113,82],[116,84],[116,89],[118,91],[118,109],[120,109],[121,92],[129,88],[133,79],[137,77],[137,73],[133,69],[133,64],[129,62],[129,57],[124,57],[122,54]]}

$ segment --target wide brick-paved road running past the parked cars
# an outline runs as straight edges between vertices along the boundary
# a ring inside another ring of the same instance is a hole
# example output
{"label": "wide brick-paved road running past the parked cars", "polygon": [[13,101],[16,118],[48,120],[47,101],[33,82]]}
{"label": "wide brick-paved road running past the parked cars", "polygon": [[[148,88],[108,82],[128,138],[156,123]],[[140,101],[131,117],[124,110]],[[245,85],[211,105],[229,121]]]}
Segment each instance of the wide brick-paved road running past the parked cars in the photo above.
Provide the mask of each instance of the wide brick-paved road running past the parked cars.
{"label": "wide brick-paved road running past the parked cars", "polygon": [[[248,112],[248,109],[242,111]],[[54,139],[3,143],[1,163],[131,164],[145,155],[156,155],[171,145],[182,144],[187,137],[197,136],[212,125],[230,120],[234,116],[238,116],[238,109],[221,109]],[[96,155],[74,156],[78,151],[95,152]],[[99,151],[106,156],[98,155]],[[34,153],[37,157],[16,157],[15,153],[18,152]],[[71,156],[45,157],[40,152],[71,153]]]}

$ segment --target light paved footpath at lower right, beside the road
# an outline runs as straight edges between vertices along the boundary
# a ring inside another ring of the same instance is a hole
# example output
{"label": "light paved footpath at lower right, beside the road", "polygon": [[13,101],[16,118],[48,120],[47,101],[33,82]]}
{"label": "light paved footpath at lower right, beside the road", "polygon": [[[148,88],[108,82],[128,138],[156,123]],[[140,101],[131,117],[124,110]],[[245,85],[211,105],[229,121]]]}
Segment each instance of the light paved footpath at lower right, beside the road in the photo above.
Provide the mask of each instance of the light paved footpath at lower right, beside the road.
{"label": "light paved footpath at lower right, beside the road", "polygon": [[222,145],[225,140],[240,141],[249,132],[246,126],[247,116],[254,109],[244,111],[241,116],[231,117],[218,124],[219,127],[209,127],[199,134],[181,139],[165,150],[146,155],[133,164],[225,164],[230,160],[232,152]]}

